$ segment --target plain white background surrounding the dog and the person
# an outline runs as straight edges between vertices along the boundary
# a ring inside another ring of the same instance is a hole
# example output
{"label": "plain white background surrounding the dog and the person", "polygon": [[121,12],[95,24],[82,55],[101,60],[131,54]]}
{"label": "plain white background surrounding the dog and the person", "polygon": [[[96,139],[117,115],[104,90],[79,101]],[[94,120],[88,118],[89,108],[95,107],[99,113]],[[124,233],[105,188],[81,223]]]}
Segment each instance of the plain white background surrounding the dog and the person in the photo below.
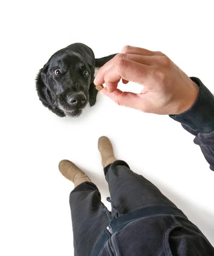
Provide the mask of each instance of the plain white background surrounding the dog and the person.
{"label": "plain white background surrounding the dog and the person", "polygon": [[58,162],[74,161],[98,185],[105,201],[109,193],[97,150],[101,135],[110,137],[117,158],[156,184],[214,245],[214,173],[194,137],[179,123],[119,107],[101,95],[81,117],[61,118],[43,107],[35,91],[35,76],[49,57],[81,42],[97,58],[126,44],[162,51],[214,92],[212,2],[1,4],[2,256],[73,255],[73,185],[58,171]]}

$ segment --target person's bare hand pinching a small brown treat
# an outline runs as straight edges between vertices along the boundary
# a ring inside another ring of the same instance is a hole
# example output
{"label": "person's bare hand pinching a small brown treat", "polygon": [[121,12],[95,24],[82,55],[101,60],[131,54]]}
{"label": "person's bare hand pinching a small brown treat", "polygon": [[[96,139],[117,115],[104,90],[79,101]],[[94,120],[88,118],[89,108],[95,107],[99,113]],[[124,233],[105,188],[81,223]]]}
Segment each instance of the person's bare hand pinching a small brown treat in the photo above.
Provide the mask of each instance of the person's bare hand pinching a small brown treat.
{"label": "person's bare hand pinching a small brown treat", "polygon": [[[140,94],[117,89],[119,81],[142,84]],[[125,46],[98,71],[94,84],[118,105],[147,113],[177,115],[197,99],[199,87],[162,52]]]}

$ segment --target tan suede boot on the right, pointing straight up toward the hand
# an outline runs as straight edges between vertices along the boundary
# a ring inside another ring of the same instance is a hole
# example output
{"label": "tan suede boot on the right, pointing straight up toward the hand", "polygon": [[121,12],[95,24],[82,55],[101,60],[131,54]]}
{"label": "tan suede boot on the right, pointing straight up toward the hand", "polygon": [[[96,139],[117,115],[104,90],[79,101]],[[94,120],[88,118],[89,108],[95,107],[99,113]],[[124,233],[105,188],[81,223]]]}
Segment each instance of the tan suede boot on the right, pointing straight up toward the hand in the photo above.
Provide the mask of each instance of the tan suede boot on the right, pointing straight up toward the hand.
{"label": "tan suede boot on the right, pointing straight up toward the hand", "polygon": [[107,137],[102,136],[99,138],[98,149],[101,154],[103,167],[117,160],[114,156],[112,144]]}

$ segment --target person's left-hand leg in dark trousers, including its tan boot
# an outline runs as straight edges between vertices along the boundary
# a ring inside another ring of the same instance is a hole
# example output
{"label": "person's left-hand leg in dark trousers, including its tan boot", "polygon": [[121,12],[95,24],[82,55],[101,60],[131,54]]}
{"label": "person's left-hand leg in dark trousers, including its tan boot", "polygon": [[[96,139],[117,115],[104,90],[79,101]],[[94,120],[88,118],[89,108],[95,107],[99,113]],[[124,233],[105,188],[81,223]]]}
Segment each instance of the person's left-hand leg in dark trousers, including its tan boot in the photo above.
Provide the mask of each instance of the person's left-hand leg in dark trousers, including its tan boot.
{"label": "person's left-hand leg in dark trousers, including its tan boot", "polygon": [[100,192],[87,175],[72,162],[61,161],[59,169],[75,184],[69,198],[75,256],[91,255],[110,222],[103,210]]}

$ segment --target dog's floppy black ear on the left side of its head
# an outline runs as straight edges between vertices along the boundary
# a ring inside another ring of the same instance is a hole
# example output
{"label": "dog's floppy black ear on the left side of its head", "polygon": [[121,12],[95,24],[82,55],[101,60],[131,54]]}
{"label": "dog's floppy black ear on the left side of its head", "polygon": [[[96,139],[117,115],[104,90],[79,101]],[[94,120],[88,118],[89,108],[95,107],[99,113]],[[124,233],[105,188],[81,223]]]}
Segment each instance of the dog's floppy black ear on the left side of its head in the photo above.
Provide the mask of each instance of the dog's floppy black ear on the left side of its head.
{"label": "dog's floppy black ear on the left side of its head", "polygon": [[40,101],[43,105],[53,113],[58,116],[65,116],[64,112],[61,111],[57,106],[55,106],[55,97],[48,86],[48,71],[49,63],[46,63],[43,68],[39,70],[38,75],[36,76],[36,90],[39,96]]}

